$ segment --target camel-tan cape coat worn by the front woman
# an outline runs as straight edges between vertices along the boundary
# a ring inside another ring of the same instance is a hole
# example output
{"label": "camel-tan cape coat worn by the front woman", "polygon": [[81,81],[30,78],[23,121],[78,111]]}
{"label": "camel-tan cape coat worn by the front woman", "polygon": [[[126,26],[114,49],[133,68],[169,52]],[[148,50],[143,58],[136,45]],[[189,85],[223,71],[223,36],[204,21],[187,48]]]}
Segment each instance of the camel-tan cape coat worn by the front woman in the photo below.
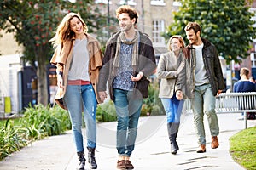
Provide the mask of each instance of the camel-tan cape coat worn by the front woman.
{"label": "camel-tan cape coat worn by the front woman", "polygon": [[[94,88],[96,99],[98,103],[102,103],[97,92],[98,76],[100,68],[102,67],[102,50],[100,48],[100,43],[96,40],[95,37],[90,36],[90,34],[85,34],[87,37],[87,49],[90,56],[89,61],[89,76],[90,82]],[[50,60],[50,63],[56,65],[57,72],[63,72],[63,86],[64,88],[58,88],[57,94],[55,95],[55,101],[63,109],[66,109],[66,106],[63,103],[63,97],[66,93],[67,88],[67,75],[73,58],[73,43],[74,38],[71,41],[64,42],[61,46],[55,49],[55,53]],[[86,47],[84,47],[86,48]]]}

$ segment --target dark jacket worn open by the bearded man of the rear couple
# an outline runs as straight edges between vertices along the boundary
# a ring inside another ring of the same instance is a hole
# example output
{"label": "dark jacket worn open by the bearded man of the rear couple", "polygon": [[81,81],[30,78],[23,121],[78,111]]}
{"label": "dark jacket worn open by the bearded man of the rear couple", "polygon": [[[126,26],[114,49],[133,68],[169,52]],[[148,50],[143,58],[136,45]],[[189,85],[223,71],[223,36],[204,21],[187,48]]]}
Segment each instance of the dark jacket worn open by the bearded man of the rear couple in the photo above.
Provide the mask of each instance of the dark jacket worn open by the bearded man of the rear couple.
{"label": "dark jacket worn open by the bearded man of the rear couple", "polygon": [[[211,42],[203,38],[201,40],[204,44],[202,48],[202,57],[207,71],[207,77],[212,87],[212,94],[216,96],[218,90],[223,90],[225,88],[224,77],[218,59],[218,52]],[[193,99],[195,95],[195,48],[189,44],[185,49],[185,53],[187,57],[186,66],[183,69],[181,76],[177,78],[177,84],[189,99]]]}

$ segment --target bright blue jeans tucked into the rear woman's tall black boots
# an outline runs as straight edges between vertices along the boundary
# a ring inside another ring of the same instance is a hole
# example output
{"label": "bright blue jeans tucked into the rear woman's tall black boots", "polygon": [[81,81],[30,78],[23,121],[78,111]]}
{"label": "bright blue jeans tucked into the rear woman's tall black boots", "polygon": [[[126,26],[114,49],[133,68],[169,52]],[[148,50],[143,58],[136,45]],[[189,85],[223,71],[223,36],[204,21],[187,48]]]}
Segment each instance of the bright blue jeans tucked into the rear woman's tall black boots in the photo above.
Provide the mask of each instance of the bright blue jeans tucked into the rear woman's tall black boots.
{"label": "bright blue jeans tucked into the rear woman's tall black boots", "polygon": [[180,122],[184,100],[178,100],[176,94],[173,94],[172,98],[161,98],[161,102],[166,111],[167,123]]}

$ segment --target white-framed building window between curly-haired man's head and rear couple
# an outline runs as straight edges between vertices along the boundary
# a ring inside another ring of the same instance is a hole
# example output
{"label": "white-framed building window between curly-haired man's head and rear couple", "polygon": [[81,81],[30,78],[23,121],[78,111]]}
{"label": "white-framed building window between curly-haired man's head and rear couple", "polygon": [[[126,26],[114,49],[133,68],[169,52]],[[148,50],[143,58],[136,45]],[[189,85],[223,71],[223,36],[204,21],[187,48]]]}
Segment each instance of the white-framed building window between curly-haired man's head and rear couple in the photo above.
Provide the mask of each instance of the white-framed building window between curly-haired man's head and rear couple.
{"label": "white-framed building window between curly-haired man's head and rear couple", "polygon": [[153,42],[156,44],[165,44],[165,38],[161,37],[161,33],[165,31],[165,21],[153,20],[152,25],[153,25],[153,30],[152,30]]}

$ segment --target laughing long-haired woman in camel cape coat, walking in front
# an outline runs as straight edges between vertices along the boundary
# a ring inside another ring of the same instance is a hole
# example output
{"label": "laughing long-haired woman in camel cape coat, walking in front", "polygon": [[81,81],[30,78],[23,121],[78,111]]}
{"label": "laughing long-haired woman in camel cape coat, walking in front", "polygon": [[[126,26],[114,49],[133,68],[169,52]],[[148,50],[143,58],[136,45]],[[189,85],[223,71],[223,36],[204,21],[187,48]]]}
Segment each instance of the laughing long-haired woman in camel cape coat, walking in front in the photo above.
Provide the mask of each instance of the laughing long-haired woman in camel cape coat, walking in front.
{"label": "laughing long-haired woman in camel cape coat, walking in front", "polygon": [[51,63],[57,67],[58,92],[55,101],[69,112],[73,140],[79,156],[78,169],[84,169],[84,144],[82,111],[86,125],[88,162],[96,169],[96,106],[102,103],[96,87],[102,67],[102,51],[96,38],[87,33],[88,28],[79,14],[67,14],[58,26],[53,43],[55,54]]}

